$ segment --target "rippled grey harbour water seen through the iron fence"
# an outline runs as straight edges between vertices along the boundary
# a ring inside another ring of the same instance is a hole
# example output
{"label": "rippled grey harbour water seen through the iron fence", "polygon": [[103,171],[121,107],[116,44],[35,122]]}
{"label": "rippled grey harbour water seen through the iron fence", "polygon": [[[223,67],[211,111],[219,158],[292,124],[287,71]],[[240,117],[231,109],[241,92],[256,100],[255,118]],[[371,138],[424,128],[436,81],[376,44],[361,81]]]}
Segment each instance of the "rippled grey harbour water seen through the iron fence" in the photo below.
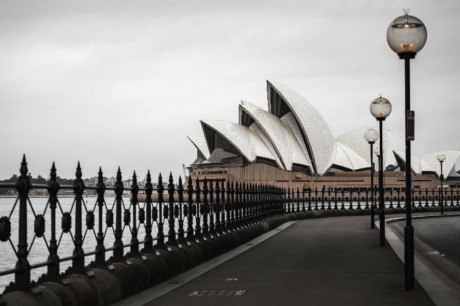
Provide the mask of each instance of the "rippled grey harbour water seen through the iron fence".
{"label": "rippled grey harbour water seen through the iron fence", "polygon": [[[94,231],[86,231],[86,225],[85,225],[85,215],[86,211],[85,208],[82,208],[83,211],[83,216],[82,216],[82,228],[83,228],[83,236],[84,236],[84,241],[83,241],[83,250],[85,252],[90,252],[93,251],[97,245],[96,237],[97,237],[97,231],[98,231],[98,207],[96,206],[96,200],[97,197],[88,197],[84,198],[85,202],[85,207],[87,211],[93,210],[95,211],[95,226],[94,226]],[[114,197],[106,197],[106,206],[108,209],[112,209],[112,206],[114,205]],[[10,216],[10,221],[11,221],[11,243],[9,241],[6,242],[0,242],[0,271],[12,269],[16,265],[17,257],[15,254],[15,251],[13,250],[13,247],[17,250],[17,244],[18,244],[18,217],[19,217],[19,203],[15,206],[14,210],[13,206],[16,201],[16,198],[0,198],[0,217],[2,216]],[[27,236],[28,236],[28,248],[29,248],[29,263],[31,265],[37,264],[37,263],[42,263],[47,261],[49,251],[47,244],[49,244],[50,239],[51,239],[51,209],[48,203],[48,197],[39,197],[39,198],[30,198],[31,205],[28,204],[27,208]],[[75,206],[72,209],[72,205],[74,202],[74,197],[60,197],[59,198],[59,204],[61,209],[59,209],[59,206],[56,208],[56,240],[59,243],[58,247],[58,255],[60,258],[64,258],[67,256],[72,256],[72,252],[74,250],[74,243],[73,243],[73,236],[75,233]],[[123,198],[123,203],[126,209],[129,208],[129,197],[124,197]],[[140,203],[141,208],[143,207],[144,203]],[[123,208],[122,208],[123,209]],[[46,210],[46,211],[45,211]],[[62,233],[61,230],[61,217],[62,217],[62,212],[71,212],[72,215],[72,228],[71,228],[71,233]],[[71,211],[72,210],[72,211]],[[124,210],[124,209],[123,209]],[[132,209],[131,209],[132,211]],[[34,212],[36,215],[42,214],[45,219],[45,233],[43,237],[38,238],[35,237],[34,233]],[[105,225],[105,212],[106,209],[103,209],[103,231],[106,230],[106,225]],[[113,210],[115,213],[115,210]],[[123,214],[122,214],[123,218]],[[165,222],[165,234],[168,233],[168,225]],[[132,217],[131,217],[131,223],[130,226],[132,226]],[[130,233],[130,226],[125,226],[123,228],[123,243],[128,244],[131,241],[131,233]],[[139,234],[138,234],[138,239],[140,241],[144,240],[145,237],[145,227],[144,224],[139,224],[139,221],[137,221],[137,226],[139,226]],[[106,247],[111,247],[113,246],[113,242],[115,241],[114,239],[114,228],[115,225],[113,224],[113,229],[112,228],[107,228],[105,232],[105,240],[104,240],[104,245]],[[156,237],[157,235],[157,226],[154,224],[152,226],[152,236]],[[59,242],[60,240],[60,242]],[[142,248],[142,246],[141,246]],[[128,251],[126,249],[125,251]],[[106,254],[106,259],[108,259],[111,256],[112,252],[107,252]],[[89,264],[91,261],[94,260],[94,256],[87,256],[85,257],[85,264]],[[60,264],[60,270],[61,272],[64,272],[69,266],[72,265],[72,261],[66,261],[62,262]],[[42,267],[42,268],[37,268],[37,269],[32,269],[31,271],[31,280],[36,281],[38,277],[47,271],[47,267]],[[9,274],[5,276],[0,276],[0,292],[3,292],[5,289],[5,286],[7,286],[10,282],[14,280],[14,274]]]}

